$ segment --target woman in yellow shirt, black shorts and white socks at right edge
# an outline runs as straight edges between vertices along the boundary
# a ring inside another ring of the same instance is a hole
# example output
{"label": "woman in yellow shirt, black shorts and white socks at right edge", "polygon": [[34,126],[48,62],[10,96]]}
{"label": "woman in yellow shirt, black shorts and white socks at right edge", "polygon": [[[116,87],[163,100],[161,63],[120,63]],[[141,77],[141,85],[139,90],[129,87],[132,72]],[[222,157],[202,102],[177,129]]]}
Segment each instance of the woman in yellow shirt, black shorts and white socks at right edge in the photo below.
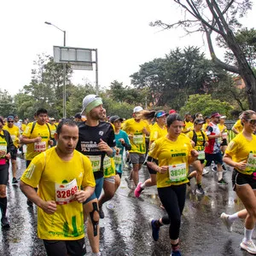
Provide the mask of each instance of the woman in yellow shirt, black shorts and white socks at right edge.
{"label": "woman in yellow shirt, black shorts and white socks at right edge", "polygon": [[234,167],[232,175],[233,188],[246,209],[228,215],[221,214],[221,218],[228,228],[238,218],[245,218],[244,238],[240,247],[248,253],[256,254],[253,243],[253,229],[256,221],[256,113],[247,110],[241,113],[240,120],[243,130],[228,145],[224,154],[224,162]]}

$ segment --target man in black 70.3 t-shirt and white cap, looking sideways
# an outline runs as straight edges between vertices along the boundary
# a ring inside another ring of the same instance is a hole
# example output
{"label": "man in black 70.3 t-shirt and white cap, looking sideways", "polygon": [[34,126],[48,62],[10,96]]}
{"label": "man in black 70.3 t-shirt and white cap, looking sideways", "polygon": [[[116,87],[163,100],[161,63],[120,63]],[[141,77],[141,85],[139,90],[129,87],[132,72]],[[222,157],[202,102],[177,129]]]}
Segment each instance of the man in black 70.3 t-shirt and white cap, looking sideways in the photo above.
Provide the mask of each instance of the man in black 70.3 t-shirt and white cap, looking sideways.
{"label": "man in black 70.3 t-shirt and white cap, looking sideways", "polygon": [[79,152],[89,157],[96,179],[95,193],[84,202],[84,219],[90,216],[88,218],[87,233],[94,255],[100,255],[97,199],[102,193],[103,161],[106,155],[113,157],[115,154],[113,126],[107,122],[100,121],[103,111],[101,97],[96,95],[84,97],[81,115],[86,115],[87,119],[79,124],[79,143],[76,148]]}

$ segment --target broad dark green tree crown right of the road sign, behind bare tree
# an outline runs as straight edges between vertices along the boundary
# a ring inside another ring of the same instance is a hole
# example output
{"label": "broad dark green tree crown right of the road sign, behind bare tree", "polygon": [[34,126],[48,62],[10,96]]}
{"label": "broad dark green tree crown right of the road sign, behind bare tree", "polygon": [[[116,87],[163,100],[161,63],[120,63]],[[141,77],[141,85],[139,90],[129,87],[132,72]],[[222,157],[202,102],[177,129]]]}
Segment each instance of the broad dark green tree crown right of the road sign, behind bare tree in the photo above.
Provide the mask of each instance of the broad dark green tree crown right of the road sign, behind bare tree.
{"label": "broad dark green tree crown right of the road sign, behind bare tree", "polygon": [[154,59],[131,75],[138,89],[148,88],[148,100],[157,106],[182,108],[189,95],[205,93],[208,84],[224,74],[197,47],[171,50],[165,59]]}

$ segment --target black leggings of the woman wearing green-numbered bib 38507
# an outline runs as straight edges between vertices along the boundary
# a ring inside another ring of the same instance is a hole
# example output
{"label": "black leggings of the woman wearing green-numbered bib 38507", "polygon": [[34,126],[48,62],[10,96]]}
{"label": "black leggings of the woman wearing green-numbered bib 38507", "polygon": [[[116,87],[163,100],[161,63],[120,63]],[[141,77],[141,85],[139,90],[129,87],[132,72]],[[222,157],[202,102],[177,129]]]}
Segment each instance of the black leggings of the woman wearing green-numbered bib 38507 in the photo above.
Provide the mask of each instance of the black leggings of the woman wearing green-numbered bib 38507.
{"label": "black leggings of the woman wearing green-numbered bib 38507", "polygon": [[172,240],[179,237],[181,215],[186,200],[186,184],[158,188],[158,195],[168,216],[162,218],[163,224],[170,224],[169,236]]}

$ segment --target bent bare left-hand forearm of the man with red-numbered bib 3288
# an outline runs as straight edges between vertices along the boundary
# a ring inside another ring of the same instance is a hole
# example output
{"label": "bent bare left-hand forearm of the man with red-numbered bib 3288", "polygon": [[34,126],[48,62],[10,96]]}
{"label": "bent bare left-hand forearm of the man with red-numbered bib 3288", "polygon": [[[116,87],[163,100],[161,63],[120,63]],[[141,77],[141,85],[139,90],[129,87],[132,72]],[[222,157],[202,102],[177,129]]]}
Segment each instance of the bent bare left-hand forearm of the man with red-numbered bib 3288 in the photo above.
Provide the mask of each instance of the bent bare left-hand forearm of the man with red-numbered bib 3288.
{"label": "bent bare left-hand forearm of the man with red-numbered bib 3288", "polygon": [[20,181],[20,189],[26,195],[26,197],[36,204],[38,207],[44,210],[44,212],[53,214],[55,213],[57,206],[55,201],[44,201],[32,186]]}

